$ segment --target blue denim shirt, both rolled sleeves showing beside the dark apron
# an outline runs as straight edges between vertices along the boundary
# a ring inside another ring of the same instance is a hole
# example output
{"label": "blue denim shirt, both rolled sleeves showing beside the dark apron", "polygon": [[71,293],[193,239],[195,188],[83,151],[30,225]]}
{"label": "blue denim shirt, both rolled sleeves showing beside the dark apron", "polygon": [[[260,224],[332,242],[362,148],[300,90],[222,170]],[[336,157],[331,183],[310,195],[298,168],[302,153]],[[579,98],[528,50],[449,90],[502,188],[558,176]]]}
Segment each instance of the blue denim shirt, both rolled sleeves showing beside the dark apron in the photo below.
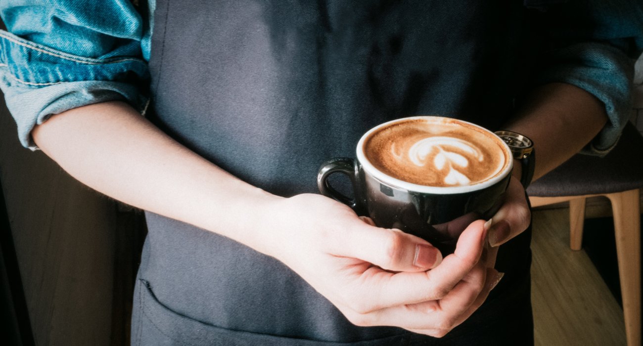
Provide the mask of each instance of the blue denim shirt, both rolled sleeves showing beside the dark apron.
{"label": "blue denim shirt, both rolled sleeves showing beside the dark apron", "polygon": [[[536,30],[552,48],[539,58],[534,85],[564,82],[601,100],[609,121],[584,152],[606,154],[631,109],[634,59],[643,51],[637,0],[552,1]],[[527,6],[530,7],[530,6]],[[4,0],[0,89],[24,147],[36,124],[87,104],[124,100],[144,111],[155,1]]]}

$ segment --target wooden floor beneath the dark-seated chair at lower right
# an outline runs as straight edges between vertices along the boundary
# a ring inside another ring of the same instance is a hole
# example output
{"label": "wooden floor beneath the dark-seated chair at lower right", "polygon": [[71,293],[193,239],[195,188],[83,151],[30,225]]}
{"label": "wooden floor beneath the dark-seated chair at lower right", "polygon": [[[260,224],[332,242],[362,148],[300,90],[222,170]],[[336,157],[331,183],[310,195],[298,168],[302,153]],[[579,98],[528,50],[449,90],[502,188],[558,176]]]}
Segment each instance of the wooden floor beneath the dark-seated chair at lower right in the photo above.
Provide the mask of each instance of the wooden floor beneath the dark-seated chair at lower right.
{"label": "wooden floor beneath the dark-seated chair at lower right", "polygon": [[568,209],[533,217],[536,345],[625,345],[622,309],[586,253],[569,248]]}

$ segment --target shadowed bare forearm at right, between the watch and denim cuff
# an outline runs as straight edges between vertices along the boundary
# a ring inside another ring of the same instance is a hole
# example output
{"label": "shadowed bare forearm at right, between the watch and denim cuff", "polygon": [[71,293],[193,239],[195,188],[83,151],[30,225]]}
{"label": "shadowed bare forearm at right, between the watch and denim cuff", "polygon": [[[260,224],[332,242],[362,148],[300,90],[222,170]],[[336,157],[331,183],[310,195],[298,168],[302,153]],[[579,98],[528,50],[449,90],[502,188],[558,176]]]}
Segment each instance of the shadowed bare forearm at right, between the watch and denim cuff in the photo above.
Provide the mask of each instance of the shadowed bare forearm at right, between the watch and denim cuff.
{"label": "shadowed bare forearm at right, between the watch and denim cuff", "polygon": [[536,180],[579,152],[607,120],[604,105],[590,93],[552,83],[533,91],[507,129],[534,141]]}

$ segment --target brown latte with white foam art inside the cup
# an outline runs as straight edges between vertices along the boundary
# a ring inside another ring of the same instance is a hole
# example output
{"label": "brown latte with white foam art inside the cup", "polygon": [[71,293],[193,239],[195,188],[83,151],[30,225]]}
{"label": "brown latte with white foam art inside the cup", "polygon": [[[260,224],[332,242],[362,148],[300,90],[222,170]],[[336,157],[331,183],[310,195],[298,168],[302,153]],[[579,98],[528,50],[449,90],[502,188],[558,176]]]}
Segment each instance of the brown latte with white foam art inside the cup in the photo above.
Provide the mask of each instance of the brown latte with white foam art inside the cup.
{"label": "brown latte with white foam art inside the cup", "polygon": [[509,164],[502,140],[471,123],[422,116],[368,134],[363,152],[388,176],[429,187],[475,185]]}

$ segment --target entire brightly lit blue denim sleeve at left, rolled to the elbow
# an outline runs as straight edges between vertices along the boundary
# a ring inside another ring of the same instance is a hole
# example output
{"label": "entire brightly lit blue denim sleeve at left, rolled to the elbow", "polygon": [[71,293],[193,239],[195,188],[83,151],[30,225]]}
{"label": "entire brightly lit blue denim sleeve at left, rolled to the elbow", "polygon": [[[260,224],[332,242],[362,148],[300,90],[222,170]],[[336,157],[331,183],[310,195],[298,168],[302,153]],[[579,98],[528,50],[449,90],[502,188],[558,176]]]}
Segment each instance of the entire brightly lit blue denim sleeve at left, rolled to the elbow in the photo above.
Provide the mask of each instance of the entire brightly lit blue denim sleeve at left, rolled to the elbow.
{"label": "entire brightly lit blue denim sleeve at left, rolled to the elbow", "polygon": [[143,20],[127,0],[0,3],[0,88],[21,143],[35,125],[87,104],[147,101]]}

